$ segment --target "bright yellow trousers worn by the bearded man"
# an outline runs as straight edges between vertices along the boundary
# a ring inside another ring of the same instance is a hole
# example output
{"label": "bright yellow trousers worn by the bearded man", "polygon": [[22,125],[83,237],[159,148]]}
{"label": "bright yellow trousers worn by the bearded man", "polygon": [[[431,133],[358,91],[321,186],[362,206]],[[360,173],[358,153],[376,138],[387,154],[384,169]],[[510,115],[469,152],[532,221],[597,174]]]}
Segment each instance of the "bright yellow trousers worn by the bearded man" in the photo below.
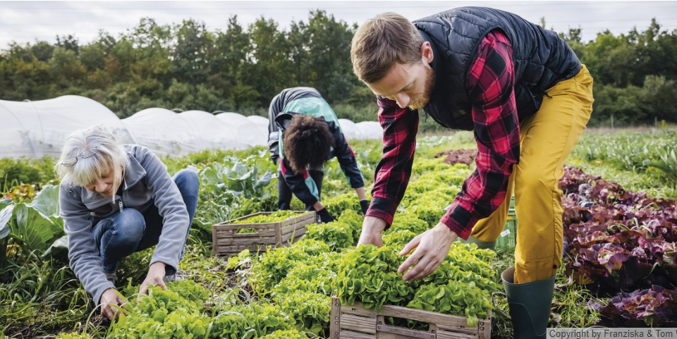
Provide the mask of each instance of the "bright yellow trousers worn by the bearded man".
{"label": "bright yellow trousers worn by the bearded man", "polygon": [[484,242],[499,238],[506,223],[511,192],[518,220],[514,283],[551,278],[561,265],[563,164],[583,134],[592,113],[592,77],[585,65],[573,78],[546,91],[534,116],[520,123],[520,160],[508,179],[499,209],[472,228]]}

